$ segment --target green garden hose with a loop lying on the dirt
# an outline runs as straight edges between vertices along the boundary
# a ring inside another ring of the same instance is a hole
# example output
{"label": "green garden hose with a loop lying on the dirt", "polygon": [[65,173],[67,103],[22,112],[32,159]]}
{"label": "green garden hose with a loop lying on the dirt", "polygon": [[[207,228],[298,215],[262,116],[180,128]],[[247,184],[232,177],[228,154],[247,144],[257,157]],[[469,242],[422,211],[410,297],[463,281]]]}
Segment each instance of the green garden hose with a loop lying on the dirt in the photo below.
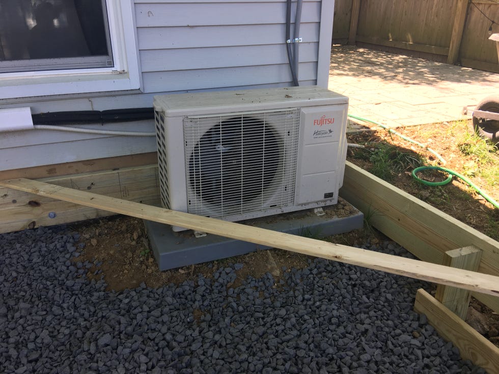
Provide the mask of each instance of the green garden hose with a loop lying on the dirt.
{"label": "green garden hose with a loop lying on the dirt", "polygon": [[[387,127],[387,126],[384,126],[376,121],[372,121],[372,120],[368,120],[366,118],[362,118],[362,117],[358,117],[358,116],[354,116],[353,114],[348,114],[348,117],[350,118],[354,118],[356,120],[359,120],[359,121],[364,121],[364,122],[370,122],[372,124],[375,124],[387,131],[389,131],[390,133],[392,134],[395,134],[399,137],[401,137],[402,139],[404,140],[407,140],[415,145],[418,145],[419,147],[423,148],[423,149],[426,149],[428,152],[432,153],[433,155],[435,155],[435,157],[440,161],[442,162],[443,164],[446,163],[446,161],[442,158],[442,156],[440,156],[437,152],[435,152],[434,150],[432,150],[431,148],[428,148],[427,146],[425,146],[423,143],[420,143],[419,141],[416,141],[416,140],[413,140],[405,135],[402,135],[401,133]],[[445,171],[449,174],[449,176],[447,177],[446,180],[444,181],[441,181],[441,182],[429,182],[429,181],[425,181],[421,178],[418,177],[418,173],[423,171],[423,170],[429,170],[429,169],[433,169],[433,170],[439,170],[439,171]],[[460,178],[462,181],[464,181],[465,183],[467,183],[470,187],[472,187],[473,189],[475,189],[480,195],[482,195],[490,204],[492,204],[494,206],[495,209],[499,209],[499,203],[497,203],[492,197],[490,197],[489,195],[487,195],[484,191],[482,191],[482,189],[480,189],[476,184],[474,184],[472,181],[470,181],[468,178],[464,177],[463,175],[459,174],[457,171],[454,171],[454,170],[451,170],[451,169],[448,169],[448,168],[445,168],[445,167],[441,167],[441,166],[420,166],[420,167],[417,167],[415,168],[414,170],[412,170],[412,177],[417,180],[418,182],[426,185],[426,186],[443,186],[443,185],[446,185],[448,183],[450,183],[452,181],[452,176],[456,176],[458,178]]]}

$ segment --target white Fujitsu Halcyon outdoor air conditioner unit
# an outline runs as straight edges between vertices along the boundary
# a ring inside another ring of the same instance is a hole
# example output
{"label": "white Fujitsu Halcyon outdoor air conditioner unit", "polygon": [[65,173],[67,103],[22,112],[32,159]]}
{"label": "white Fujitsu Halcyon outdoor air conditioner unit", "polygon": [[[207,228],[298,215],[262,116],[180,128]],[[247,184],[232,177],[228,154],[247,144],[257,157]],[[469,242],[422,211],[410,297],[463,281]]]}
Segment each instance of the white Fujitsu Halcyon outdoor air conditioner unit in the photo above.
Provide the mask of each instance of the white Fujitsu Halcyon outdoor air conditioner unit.
{"label": "white Fujitsu Halcyon outdoor air conditioner unit", "polygon": [[155,96],[161,204],[229,221],[336,204],[347,107],[315,86]]}

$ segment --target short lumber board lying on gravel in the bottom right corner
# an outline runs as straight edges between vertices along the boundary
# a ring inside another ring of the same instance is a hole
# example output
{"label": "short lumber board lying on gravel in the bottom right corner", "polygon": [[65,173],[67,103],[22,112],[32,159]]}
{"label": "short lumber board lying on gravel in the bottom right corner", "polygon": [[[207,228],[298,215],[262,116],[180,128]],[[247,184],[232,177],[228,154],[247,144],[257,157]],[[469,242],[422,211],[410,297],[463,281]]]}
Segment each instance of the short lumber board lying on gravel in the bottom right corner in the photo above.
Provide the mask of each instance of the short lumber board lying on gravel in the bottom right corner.
{"label": "short lumber board lying on gravel in the bottom right corner", "polygon": [[414,310],[425,314],[430,325],[444,339],[452,341],[459,348],[459,353],[463,359],[472,361],[489,373],[499,372],[499,348],[426,291],[418,290]]}

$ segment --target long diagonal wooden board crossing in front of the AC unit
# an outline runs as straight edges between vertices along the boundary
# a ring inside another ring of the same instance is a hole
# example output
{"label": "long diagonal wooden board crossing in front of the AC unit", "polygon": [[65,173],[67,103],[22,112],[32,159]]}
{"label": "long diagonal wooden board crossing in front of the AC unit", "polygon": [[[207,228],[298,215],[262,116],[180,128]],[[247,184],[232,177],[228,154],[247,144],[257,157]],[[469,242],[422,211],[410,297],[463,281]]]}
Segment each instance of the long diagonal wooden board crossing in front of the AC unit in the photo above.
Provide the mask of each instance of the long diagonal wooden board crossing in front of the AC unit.
{"label": "long diagonal wooden board crossing in front of the AC unit", "polygon": [[499,296],[499,277],[489,274],[454,269],[410,258],[246,226],[240,223],[172,211],[24,178],[0,181],[0,186],[50,196],[70,203],[132,217],[187,227],[227,238]]}

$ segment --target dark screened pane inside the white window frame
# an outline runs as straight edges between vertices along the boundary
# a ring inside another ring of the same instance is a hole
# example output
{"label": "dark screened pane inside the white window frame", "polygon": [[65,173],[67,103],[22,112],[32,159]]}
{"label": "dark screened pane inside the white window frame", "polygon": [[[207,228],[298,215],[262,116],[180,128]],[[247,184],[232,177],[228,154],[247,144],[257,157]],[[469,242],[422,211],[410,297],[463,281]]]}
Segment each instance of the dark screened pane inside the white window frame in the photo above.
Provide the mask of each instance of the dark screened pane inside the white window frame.
{"label": "dark screened pane inside the white window frame", "polygon": [[0,0],[0,73],[112,66],[105,0]]}

